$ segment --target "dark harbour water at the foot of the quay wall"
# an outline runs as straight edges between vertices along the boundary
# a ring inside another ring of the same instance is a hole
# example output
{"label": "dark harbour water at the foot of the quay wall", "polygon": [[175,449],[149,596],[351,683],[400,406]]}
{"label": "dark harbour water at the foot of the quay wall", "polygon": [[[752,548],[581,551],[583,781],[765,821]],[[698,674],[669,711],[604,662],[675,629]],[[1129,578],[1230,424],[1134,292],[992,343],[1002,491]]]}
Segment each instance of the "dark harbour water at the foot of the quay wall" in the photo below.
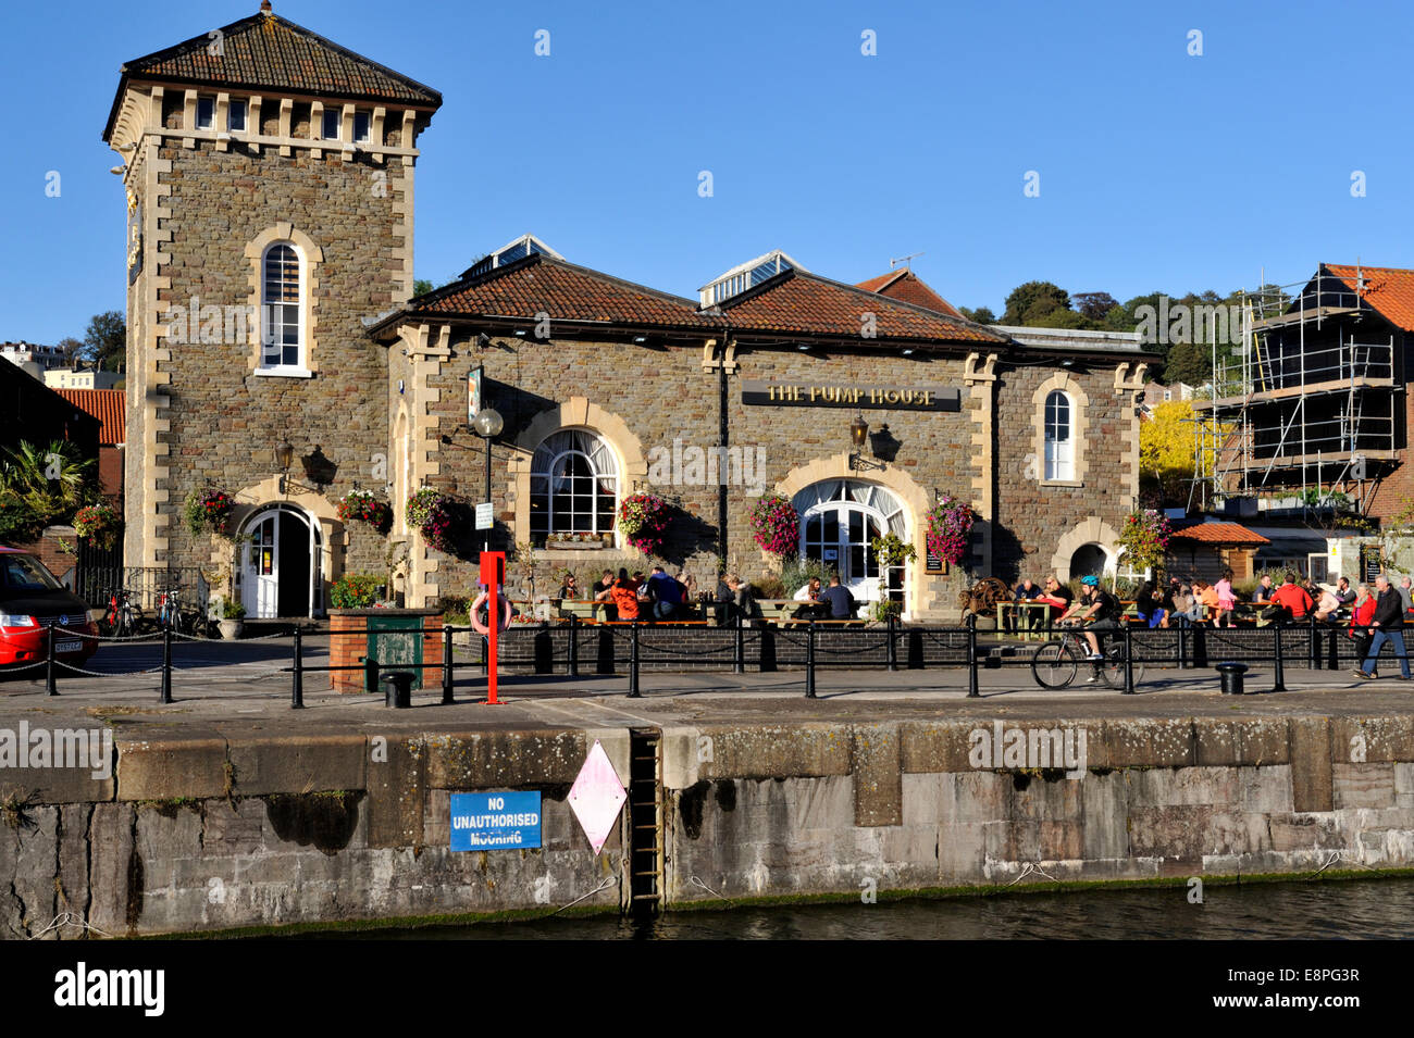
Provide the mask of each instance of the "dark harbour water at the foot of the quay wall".
{"label": "dark harbour water at the foot of the quay wall", "polygon": [[[329,932],[320,936],[346,938]],[[361,933],[447,941],[1370,939],[1414,936],[1414,878],[1086,890],[840,905],[533,919]]]}

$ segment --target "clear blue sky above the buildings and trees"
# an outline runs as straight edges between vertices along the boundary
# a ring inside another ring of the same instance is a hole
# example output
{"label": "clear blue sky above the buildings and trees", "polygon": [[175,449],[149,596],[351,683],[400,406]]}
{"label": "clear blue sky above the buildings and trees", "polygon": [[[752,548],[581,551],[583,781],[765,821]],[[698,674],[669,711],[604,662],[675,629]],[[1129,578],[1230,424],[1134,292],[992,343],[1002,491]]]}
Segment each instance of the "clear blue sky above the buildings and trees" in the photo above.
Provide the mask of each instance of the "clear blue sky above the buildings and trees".
{"label": "clear blue sky above the buildings and trees", "polygon": [[[7,8],[0,68],[24,103],[0,116],[0,339],[82,338],[123,308],[117,155],[99,140],[119,66],[257,6]],[[1124,299],[1253,287],[1263,267],[1414,266],[1414,4],[274,8],[443,92],[417,179],[416,273],[436,282],[527,230],[689,297],[776,247],[843,281],[922,251],[945,298],[998,314],[1032,278]]]}

